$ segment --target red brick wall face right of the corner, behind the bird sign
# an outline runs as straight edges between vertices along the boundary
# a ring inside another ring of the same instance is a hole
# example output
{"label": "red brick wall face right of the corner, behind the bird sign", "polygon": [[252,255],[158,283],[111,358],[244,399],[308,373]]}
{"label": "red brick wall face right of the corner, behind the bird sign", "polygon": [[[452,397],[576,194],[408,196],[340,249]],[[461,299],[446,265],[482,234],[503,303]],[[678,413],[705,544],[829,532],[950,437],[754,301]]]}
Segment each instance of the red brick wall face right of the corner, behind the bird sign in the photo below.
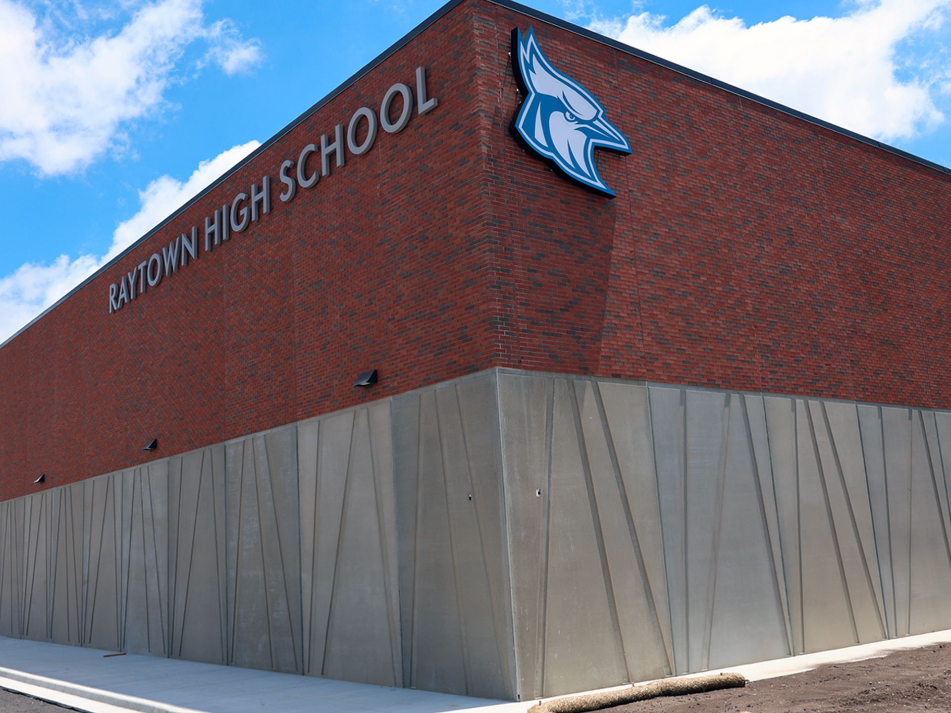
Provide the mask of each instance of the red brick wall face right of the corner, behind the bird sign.
{"label": "red brick wall face right of the corner, behind the bird sign", "polygon": [[[951,176],[486,6],[507,364],[951,407]],[[506,133],[509,32],[534,26],[631,156],[612,201]]]}

